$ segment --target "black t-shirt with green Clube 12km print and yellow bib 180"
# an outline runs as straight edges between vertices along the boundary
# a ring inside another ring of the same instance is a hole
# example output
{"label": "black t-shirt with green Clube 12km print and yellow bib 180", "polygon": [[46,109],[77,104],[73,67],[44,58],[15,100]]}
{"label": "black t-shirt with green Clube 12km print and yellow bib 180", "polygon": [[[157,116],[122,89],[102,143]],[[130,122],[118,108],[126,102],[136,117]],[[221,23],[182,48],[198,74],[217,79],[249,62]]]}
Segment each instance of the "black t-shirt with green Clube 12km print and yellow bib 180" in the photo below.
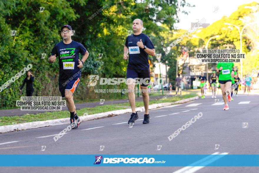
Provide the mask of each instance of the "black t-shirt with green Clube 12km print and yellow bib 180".
{"label": "black t-shirt with green Clube 12km print and yellow bib 180", "polygon": [[57,43],[51,51],[51,55],[59,56],[59,80],[67,80],[75,74],[75,78],[81,77],[79,65],[79,53],[84,55],[85,47],[72,40],[71,43],[65,44],[63,41]]}

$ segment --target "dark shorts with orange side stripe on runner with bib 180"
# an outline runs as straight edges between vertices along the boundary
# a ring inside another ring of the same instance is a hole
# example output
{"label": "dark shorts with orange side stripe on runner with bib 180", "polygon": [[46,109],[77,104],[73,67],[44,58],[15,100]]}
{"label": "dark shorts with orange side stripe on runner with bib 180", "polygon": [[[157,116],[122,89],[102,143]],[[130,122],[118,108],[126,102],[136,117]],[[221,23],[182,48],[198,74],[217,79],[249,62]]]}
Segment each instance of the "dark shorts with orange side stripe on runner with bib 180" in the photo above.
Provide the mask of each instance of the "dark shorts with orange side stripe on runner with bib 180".
{"label": "dark shorts with orange side stripe on runner with bib 180", "polygon": [[62,98],[65,97],[65,90],[69,90],[72,93],[74,93],[79,81],[80,81],[80,78],[77,78],[77,77],[71,80],[68,79],[66,81],[59,80],[59,92],[61,93]]}

